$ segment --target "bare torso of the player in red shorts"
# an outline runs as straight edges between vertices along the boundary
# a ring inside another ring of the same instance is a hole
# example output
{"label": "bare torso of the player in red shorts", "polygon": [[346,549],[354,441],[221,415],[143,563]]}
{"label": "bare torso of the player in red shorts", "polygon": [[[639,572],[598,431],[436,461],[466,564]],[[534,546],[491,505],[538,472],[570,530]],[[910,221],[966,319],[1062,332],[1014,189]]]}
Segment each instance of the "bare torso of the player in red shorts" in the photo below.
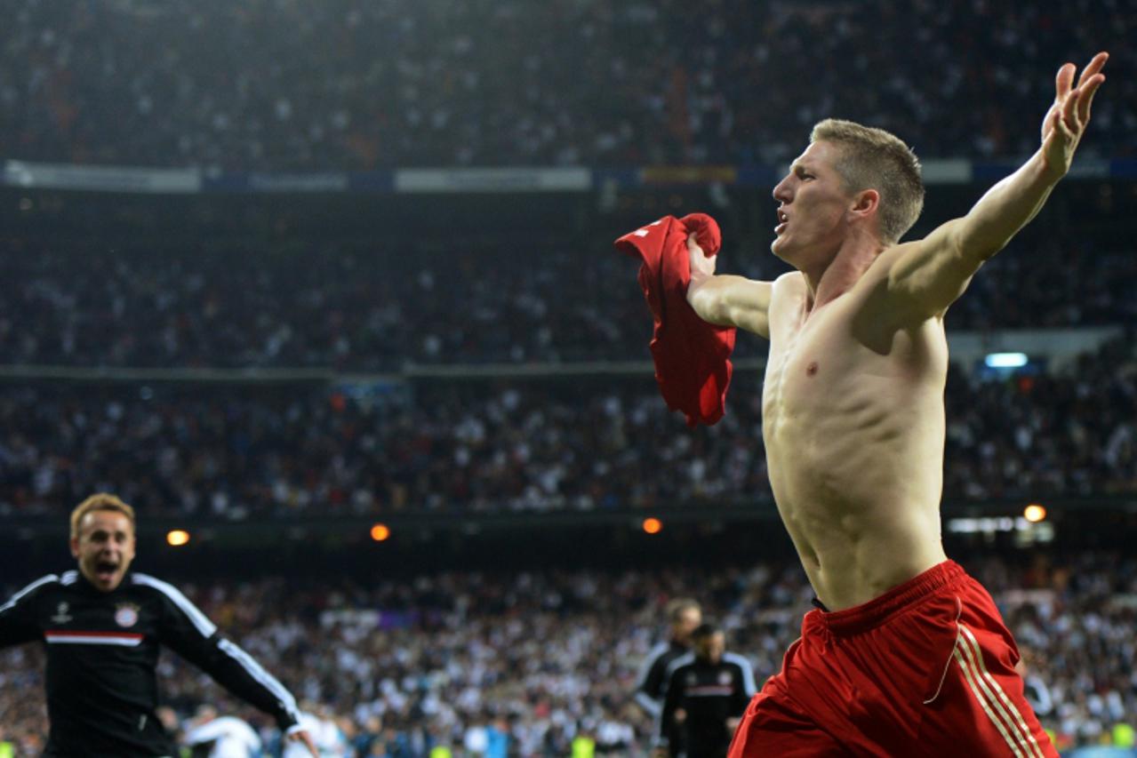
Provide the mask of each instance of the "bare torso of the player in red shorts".
{"label": "bare torso of the player in red shorts", "polygon": [[873,265],[810,313],[804,277],[787,274],[770,300],[762,397],[770,483],[814,591],[831,610],[871,600],[945,559],[943,320],[889,326],[885,276]]}

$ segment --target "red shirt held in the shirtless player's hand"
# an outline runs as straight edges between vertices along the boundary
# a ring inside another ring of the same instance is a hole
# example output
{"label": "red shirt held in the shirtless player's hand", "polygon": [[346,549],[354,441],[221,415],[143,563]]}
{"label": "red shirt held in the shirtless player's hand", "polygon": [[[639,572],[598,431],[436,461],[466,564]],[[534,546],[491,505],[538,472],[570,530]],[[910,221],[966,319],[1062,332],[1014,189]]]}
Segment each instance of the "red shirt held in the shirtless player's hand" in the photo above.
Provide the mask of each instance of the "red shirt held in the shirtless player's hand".
{"label": "red shirt held in the shirtless player's hand", "polygon": [[665,216],[625,234],[616,249],[642,261],[639,283],[655,319],[650,349],[664,401],[682,411],[689,426],[709,426],[725,411],[736,330],[707,324],[687,302],[691,233],[708,256],[722,247],[719,224],[706,214],[691,214]]}

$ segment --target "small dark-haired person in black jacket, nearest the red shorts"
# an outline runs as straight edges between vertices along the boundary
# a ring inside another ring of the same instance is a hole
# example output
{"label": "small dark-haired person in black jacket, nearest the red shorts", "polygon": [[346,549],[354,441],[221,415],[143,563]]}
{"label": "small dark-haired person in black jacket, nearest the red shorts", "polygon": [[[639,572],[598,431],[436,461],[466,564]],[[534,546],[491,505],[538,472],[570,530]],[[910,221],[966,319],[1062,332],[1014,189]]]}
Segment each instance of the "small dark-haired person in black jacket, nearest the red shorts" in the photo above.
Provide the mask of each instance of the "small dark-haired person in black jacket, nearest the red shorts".
{"label": "small dark-haired person in black jacket, nearest the red shorts", "polygon": [[756,692],[754,670],[746,658],[727,652],[716,624],[700,624],[691,641],[691,652],[667,669],[656,755],[722,758]]}

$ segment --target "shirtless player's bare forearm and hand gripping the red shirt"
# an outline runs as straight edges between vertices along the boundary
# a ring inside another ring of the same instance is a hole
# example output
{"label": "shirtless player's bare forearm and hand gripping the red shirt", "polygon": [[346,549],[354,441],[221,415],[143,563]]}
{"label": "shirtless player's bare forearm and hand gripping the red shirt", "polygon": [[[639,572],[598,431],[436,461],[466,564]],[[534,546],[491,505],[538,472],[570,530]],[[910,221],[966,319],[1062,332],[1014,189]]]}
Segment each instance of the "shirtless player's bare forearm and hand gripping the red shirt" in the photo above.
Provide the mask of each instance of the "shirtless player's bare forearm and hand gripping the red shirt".
{"label": "shirtless player's bare forearm and hand gripping the red shirt", "polygon": [[691,282],[687,302],[703,320],[716,326],[737,326],[770,339],[770,282],[756,282],[745,276],[715,276],[714,258],[703,253],[695,235],[687,239],[691,259]]}

